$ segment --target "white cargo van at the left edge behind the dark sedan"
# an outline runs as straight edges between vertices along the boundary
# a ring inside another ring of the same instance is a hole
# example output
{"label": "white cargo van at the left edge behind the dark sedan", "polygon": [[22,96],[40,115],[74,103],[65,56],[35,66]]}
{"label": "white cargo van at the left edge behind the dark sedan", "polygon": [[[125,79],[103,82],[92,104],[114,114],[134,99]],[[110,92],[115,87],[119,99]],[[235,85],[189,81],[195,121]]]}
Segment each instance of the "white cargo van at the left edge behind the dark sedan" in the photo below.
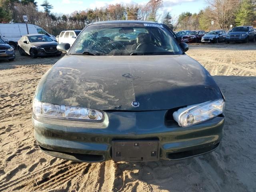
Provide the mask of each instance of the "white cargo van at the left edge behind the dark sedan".
{"label": "white cargo van at the left edge behind the dark sedan", "polygon": [[[56,41],[53,35],[36,25],[28,24],[28,32],[29,34],[45,34]],[[0,23],[0,38],[4,41],[9,41],[12,48],[16,48],[18,40],[28,32],[24,23]]]}

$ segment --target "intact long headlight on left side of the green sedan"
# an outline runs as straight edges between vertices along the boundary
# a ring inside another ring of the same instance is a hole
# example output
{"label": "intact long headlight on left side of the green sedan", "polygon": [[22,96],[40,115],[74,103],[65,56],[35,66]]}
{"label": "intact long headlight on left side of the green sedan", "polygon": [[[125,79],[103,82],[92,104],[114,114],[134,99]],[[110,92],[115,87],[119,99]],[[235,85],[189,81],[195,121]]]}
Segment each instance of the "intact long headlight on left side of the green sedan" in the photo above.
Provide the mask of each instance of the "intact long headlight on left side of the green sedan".
{"label": "intact long headlight on left side of the green sedan", "polygon": [[33,113],[36,116],[81,121],[102,121],[104,117],[103,112],[99,110],[56,105],[39,102],[38,100],[33,101]]}

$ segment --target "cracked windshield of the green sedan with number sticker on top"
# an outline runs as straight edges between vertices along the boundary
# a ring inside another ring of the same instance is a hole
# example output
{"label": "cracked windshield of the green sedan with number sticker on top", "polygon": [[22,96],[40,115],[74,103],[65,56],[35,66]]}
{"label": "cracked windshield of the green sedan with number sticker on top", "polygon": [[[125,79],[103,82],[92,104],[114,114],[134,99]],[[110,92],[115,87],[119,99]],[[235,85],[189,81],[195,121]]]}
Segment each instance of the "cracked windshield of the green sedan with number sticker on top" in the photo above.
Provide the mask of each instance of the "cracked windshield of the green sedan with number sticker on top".
{"label": "cracked windshield of the green sedan with number sticker on top", "polygon": [[[133,54],[137,53],[137,54]],[[68,55],[93,56],[183,54],[172,34],[160,24],[92,24],[78,36]]]}

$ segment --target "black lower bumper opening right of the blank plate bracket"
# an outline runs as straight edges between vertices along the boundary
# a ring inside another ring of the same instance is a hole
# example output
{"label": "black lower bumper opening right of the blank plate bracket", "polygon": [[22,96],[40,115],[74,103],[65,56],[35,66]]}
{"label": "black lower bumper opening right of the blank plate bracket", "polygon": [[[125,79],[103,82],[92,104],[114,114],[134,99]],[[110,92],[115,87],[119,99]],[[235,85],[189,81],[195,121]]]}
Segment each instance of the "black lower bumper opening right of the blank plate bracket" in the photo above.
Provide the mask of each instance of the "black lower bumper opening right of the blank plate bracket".
{"label": "black lower bumper opening right of the blank plate bracket", "polygon": [[201,148],[201,149],[189,150],[189,151],[178,152],[178,153],[169,153],[167,154],[166,157],[170,160],[178,160],[178,159],[183,159],[187,157],[197,156],[197,155],[204,154],[206,152],[210,152],[216,149],[219,146],[219,144],[220,143],[217,143],[215,145]]}

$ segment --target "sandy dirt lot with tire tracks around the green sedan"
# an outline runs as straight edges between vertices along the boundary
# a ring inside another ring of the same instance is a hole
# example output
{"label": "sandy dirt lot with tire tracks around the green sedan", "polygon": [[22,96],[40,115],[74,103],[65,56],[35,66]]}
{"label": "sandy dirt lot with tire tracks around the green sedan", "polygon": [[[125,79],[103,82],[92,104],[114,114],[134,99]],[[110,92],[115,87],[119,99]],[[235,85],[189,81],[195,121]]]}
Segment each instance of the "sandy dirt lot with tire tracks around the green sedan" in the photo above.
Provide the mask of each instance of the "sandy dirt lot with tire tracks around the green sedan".
{"label": "sandy dirt lot with tire tracks around the green sedan", "polygon": [[256,44],[192,45],[226,96],[220,147],[181,161],[76,163],[41,152],[31,123],[41,76],[59,58],[0,61],[0,191],[256,191]]}

